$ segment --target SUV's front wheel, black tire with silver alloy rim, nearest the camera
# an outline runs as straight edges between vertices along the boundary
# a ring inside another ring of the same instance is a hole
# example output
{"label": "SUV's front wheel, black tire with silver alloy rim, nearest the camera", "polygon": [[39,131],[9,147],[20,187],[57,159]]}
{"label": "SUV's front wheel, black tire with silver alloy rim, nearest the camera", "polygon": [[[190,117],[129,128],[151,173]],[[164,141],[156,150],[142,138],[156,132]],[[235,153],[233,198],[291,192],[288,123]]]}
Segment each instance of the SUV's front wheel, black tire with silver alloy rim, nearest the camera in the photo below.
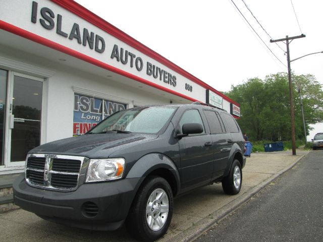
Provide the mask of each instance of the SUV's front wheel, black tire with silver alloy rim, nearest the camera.
{"label": "SUV's front wheel, black tire with silver alloy rim, nearest the camera", "polygon": [[154,241],[163,236],[173,216],[173,193],[167,180],[148,177],[139,188],[129,211],[128,232],[142,241]]}

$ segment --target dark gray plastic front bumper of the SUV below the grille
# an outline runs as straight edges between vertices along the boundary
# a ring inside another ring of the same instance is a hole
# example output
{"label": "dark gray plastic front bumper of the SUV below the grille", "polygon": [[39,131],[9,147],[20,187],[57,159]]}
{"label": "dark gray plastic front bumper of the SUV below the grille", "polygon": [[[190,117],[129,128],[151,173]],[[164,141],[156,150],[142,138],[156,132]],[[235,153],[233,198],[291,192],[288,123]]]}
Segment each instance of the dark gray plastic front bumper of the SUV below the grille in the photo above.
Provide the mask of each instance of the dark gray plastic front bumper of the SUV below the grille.
{"label": "dark gray plastic front bumper of the SUV below the grille", "polygon": [[[114,230],[127,217],[141,179],[89,183],[73,192],[57,192],[30,187],[22,174],[13,184],[14,202],[49,221],[85,229]],[[93,207],[97,213],[88,213]]]}

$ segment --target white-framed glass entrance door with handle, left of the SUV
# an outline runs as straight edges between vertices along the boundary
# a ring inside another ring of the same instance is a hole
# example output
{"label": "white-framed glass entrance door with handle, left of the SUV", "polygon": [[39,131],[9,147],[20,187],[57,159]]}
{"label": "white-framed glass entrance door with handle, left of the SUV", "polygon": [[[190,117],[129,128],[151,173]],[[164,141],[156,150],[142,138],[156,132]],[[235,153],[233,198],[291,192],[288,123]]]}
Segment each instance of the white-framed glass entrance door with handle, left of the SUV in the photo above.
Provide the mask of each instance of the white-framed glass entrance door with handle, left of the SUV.
{"label": "white-framed glass entrance door with handle, left of the SUV", "polygon": [[10,86],[8,166],[21,166],[28,151],[40,145],[42,81],[13,73]]}

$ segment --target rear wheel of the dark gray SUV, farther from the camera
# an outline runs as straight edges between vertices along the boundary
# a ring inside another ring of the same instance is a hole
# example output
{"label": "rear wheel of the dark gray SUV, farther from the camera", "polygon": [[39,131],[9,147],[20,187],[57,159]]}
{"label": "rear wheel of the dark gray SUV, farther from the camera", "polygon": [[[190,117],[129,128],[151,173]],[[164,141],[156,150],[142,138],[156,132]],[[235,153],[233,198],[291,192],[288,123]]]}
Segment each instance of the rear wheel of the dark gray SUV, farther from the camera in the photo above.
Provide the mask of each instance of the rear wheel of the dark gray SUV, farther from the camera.
{"label": "rear wheel of the dark gray SUV, farther from the camera", "polygon": [[222,188],[226,194],[236,195],[242,185],[242,169],[238,160],[234,160],[229,175],[222,180]]}

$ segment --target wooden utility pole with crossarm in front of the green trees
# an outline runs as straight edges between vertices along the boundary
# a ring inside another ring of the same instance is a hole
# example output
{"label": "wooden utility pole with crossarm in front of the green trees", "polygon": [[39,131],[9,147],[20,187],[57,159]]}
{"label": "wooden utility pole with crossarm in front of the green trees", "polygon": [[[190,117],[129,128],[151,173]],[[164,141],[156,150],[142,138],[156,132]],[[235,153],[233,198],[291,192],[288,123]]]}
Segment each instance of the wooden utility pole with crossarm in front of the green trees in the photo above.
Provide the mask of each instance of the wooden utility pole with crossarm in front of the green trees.
{"label": "wooden utility pole with crossarm in front of the green trees", "polygon": [[293,88],[292,88],[292,71],[291,71],[291,59],[289,57],[289,44],[293,41],[293,39],[299,39],[305,37],[305,34],[301,34],[294,37],[288,37],[283,39],[270,40],[271,43],[286,41],[287,47],[287,68],[288,68],[288,82],[289,82],[289,98],[291,102],[291,128],[292,128],[292,151],[293,155],[296,155],[296,144],[295,144],[295,119],[294,119],[294,102],[293,102]]}

